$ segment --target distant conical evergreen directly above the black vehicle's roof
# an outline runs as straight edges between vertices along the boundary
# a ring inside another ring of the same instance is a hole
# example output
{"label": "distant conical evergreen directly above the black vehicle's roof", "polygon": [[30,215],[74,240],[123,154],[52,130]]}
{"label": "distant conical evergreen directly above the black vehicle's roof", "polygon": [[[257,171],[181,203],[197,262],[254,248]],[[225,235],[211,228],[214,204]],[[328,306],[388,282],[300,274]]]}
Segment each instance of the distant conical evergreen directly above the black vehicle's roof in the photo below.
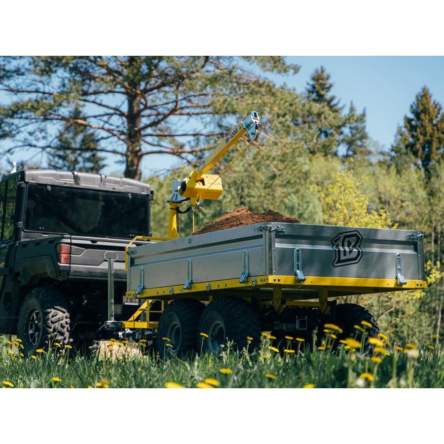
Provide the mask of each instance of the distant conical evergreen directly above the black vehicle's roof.
{"label": "distant conical evergreen directly above the black vehicle's roof", "polygon": [[85,126],[75,124],[82,119],[81,111],[75,108],[70,121],[57,136],[54,148],[47,150],[50,168],[84,173],[98,173],[104,166],[104,157],[100,156],[96,134]]}

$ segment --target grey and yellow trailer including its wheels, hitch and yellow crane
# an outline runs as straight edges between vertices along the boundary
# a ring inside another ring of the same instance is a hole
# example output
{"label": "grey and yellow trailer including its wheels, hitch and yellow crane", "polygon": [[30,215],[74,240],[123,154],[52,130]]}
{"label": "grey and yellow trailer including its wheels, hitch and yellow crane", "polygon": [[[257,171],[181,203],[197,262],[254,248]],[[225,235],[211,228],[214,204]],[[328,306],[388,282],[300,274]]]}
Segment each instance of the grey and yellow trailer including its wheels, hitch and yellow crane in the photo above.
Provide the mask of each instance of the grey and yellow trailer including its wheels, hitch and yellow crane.
{"label": "grey and yellow trailer including its wheels, hitch and yellow crane", "polygon": [[269,221],[179,238],[180,206],[189,204],[194,217],[203,199],[219,198],[221,176],[207,171],[236,142],[253,143],[258,124],[253,112],[185,179],[173,181],[168,237],[137,236],[126,248],[125,301],[137,309],[117,321],[110,306],[101,337],[155,338],[164,356],[218,354],[227,341],[253,350],[261,332],[308,342],[326,323],[340,327],[338,340],[362,321],[375,335],[371,313],[336,303],[338,296],[426,288],[423,233],[416,230]]}

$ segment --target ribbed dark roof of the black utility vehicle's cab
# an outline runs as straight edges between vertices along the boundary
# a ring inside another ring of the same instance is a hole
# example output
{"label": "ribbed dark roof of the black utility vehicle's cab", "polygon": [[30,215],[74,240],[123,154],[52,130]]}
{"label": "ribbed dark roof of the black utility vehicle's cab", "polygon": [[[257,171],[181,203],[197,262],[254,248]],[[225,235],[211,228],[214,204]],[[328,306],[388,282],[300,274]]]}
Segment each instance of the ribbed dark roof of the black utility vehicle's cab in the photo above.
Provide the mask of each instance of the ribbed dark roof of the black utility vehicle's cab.
{"label": "ribbed dark roof of the black utility vehicle's cab", "polygon": [[[58,170],[23,170],[19,171],[22,180],[30,184],[73,186],[104,191],[150,194],[148,184],[134,179],[104,176],[96,173],[78,173],[76,171]],[[7,177],[4,177],[5,180]]]}

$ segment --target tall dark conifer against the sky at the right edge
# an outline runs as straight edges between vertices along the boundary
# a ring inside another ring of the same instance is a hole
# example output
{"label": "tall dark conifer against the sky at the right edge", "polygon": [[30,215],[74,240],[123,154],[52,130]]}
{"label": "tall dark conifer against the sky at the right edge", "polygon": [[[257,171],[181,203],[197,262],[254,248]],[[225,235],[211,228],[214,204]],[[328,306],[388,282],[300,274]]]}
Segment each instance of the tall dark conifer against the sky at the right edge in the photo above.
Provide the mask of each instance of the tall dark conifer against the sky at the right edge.
{"label": "tall dark conifer against the sky at the right edge", "polygon": [[[424,86],[410,105],[410,115],[404,116],[404,125],[398,129],[392,147],[395,156],[409,159],[417,168],[423,168],[427,178],[444,151],[444,114],[439,102],[432,99]],[[399,160],[397,164],[405,164]]]}

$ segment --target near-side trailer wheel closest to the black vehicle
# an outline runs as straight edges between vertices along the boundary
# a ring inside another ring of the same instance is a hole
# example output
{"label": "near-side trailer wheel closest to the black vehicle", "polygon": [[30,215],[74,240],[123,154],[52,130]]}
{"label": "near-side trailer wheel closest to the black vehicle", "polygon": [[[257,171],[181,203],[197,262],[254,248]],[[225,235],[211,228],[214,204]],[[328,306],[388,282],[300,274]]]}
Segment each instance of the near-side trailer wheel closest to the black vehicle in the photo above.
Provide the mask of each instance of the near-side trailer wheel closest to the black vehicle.
{"label": "near-side trailer wheel closest to the black vehicle", "polygon": [[197,326],[203,309],[204,304],[194,299],[168,304],[157,329],[157,348],[162,358],[185,356],[196,349]]}

